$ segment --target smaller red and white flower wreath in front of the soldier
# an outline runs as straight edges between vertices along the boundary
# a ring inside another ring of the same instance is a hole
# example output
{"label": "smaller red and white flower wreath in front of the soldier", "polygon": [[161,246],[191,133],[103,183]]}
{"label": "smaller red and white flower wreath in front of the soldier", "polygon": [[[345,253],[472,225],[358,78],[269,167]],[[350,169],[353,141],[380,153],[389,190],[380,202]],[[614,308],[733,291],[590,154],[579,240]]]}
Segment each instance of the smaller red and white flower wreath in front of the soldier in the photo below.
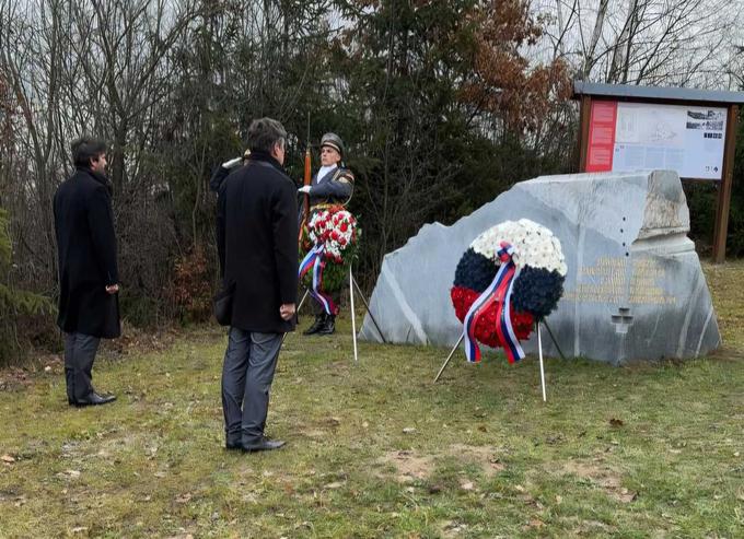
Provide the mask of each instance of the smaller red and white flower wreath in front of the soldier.
{"label": "smaller red and white flower wreath in front of the soldier", "polygon": [[[361,229],[353,214],[342,206],[330,206],[312,213],[303,227],[300,242],[300,260],[314,247],[323,247],[323,292],[332,293],[344,288],[348,281],[348,267],[357,256]],[[312,286],[312,272],[305,273],[303,282]]]}

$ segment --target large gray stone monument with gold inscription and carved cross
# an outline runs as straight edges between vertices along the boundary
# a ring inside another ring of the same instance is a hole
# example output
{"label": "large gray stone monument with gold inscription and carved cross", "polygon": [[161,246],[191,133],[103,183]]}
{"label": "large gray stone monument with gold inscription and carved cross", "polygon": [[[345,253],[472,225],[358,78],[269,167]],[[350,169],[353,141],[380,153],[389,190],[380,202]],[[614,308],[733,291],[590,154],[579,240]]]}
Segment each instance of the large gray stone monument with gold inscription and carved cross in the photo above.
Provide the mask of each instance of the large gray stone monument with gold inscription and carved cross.
{"label": "large gray stone monument with gold inscription and carved cross", "polygon": [[[385,256],[370,301],[386,341],[453,345],[460,258],[486,229],[521,218],[550,229],[566,256],[565,294],[547,319],[566,355],[620,364],[696,358],[721,343],[682,184],[667,171],[543,176],[452,226],[425,225]],[[380,341],[369,315],[360,338]],[[547,332],[543,345],[557,355]],[[534,332],[523,347],[536,352]]]}

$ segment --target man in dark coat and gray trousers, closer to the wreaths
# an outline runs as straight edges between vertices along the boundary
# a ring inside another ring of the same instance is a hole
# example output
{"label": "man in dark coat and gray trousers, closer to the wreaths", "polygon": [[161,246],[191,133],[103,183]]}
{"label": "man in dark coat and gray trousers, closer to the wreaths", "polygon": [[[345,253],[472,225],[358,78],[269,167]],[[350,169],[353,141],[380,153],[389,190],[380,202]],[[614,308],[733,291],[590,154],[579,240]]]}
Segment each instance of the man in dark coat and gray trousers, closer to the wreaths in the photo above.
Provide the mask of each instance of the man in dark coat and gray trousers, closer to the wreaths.
{"label": "man in dark coat and gray trousers, closer to the wreaths", "polygon": [[254,120],[246,166],[220,186],[217,237],[223,286],[233,288],[222,367],[225,446],[257,452],[283,442],[264,435],[269,390],[282,336],[297,318],[298,209],[282,168],[287,132],[277,120]]}

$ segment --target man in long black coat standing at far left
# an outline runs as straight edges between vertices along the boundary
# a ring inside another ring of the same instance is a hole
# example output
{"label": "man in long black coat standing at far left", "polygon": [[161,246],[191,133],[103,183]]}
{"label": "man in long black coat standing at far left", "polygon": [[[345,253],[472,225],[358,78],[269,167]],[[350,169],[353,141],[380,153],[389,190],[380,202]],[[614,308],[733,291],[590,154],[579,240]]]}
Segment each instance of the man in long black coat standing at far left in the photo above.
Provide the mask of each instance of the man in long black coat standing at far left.
{"label": "man in long black coat standing at far left", "polygon": [[72,143],[75,173],[55,194],[59,259],[59,316],[65,332],[65,376],[71,406],[113,402],[91,384],[101,338],[121,333],[117,293],[116,236],[106,144],[81,138]]}

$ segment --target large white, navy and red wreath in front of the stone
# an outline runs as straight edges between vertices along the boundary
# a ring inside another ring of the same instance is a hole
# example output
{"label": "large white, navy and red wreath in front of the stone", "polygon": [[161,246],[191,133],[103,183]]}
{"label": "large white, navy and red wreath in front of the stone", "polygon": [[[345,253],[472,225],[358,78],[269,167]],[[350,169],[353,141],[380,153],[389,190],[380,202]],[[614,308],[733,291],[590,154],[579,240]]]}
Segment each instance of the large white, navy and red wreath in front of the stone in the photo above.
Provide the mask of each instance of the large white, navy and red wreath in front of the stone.
{"label": "large white, navy and red wreath in front of the stone", "polygon": [[524,358],[520,340],[556,307],[566,271],[558,238],[528,219],[504,221],[476,237],[450,291],[467,360],[480,361],[477,341],[503,348],[510,363]]}

